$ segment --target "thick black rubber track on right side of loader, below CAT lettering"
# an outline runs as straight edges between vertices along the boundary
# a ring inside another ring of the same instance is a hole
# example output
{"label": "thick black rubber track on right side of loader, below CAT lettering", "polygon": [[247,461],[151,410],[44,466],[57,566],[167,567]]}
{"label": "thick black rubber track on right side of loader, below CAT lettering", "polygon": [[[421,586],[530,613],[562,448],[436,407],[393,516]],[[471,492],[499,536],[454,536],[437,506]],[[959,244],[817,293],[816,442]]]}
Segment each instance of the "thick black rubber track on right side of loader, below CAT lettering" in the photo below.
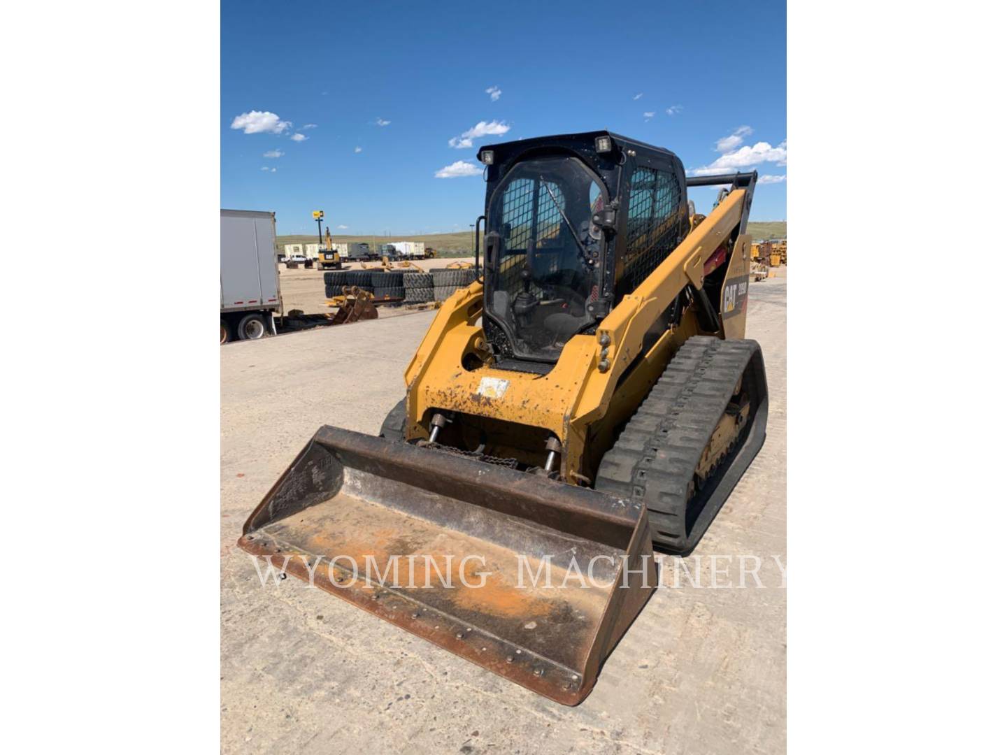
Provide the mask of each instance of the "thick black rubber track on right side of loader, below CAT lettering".
{"label": "thick black rubber track on right side of loader, below CAT lettering", "polygon": [[[700,457],[739,378],[748,396],[748,422],[713,476],[687,500]],[[602,457],[595,489],[643,502],[655,546],[687,555],[762,447],[767,412],[758,343],[694,336]]]}

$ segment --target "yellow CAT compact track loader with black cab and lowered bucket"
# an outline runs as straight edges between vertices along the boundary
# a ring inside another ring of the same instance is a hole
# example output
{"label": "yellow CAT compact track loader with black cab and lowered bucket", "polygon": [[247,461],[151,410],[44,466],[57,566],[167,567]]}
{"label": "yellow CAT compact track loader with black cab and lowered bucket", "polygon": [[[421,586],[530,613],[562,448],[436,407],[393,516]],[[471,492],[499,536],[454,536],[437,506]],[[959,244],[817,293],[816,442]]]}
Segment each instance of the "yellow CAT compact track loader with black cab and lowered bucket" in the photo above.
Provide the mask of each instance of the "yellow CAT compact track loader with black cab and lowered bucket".
{"label": "yellow CAT compact track loader with black cab and lowered bucket", "polygon": [[[576,705],[655,589],[653,547],[692,551],[765,437],[743,339],[756,174],[687,179],[606,131],[479,159],[480,277],[380,436],[319,429],[239,545]],[[691,212],[687,187],[717,185]]]}

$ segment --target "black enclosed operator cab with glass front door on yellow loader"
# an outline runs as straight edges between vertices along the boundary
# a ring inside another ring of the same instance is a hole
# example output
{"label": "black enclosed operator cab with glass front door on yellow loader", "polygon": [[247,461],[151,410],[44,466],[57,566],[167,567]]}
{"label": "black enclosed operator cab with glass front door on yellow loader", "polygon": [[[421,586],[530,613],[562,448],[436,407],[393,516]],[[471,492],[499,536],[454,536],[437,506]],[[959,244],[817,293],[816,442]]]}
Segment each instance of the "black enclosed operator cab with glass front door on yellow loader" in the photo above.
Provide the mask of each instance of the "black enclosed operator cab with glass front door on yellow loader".
{"label": "black enclosed operator cab with glass front door on yellow loader", "polygon": [[668,150],[602,131],[496,144],[479,159],[483,329],[507,361],[555,363],[688,233],[685,172]]}

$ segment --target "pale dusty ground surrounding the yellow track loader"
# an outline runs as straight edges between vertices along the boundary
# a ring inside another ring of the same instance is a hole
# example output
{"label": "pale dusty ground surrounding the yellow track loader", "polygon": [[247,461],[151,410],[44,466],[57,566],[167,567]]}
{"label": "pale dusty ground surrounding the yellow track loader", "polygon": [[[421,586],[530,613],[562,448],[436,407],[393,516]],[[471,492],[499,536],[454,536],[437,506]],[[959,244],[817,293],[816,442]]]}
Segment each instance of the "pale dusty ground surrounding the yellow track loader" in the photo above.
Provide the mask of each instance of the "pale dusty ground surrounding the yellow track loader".
{"label": "pale dusty ground surrounding the yellow track loader", "polygon": [[[285,300],[301,277],[321,290],[316,271],[284,276]],[[577,708],[300,580],[262,586],[235,546],[245,518],[320,425],[378,432],[433,317],[410,313],[221,349],[222,750],[783,752],[783,271],[751,284],[748,305],[748,337],[761,344],[769,381],[765,445],[693,557],[661,559],[670,572],[699,564],[698,579],[681,572],[679,587],[655,592]],[[743,581],[742,556],[760,560],[757,582]]]}

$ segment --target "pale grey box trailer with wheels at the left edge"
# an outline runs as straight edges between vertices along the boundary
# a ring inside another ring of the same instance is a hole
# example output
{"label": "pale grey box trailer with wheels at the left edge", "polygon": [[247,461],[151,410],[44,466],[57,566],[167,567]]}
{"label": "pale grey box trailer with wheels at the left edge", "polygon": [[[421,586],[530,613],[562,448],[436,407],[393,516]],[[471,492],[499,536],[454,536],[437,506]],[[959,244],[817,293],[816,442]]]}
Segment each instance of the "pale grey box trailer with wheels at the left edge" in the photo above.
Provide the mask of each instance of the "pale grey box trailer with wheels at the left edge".
{"label": "pale grey box trailer with wheels at the left edge", "polygon": [[276,213],[221,210],[221,343],[276,335]]}

